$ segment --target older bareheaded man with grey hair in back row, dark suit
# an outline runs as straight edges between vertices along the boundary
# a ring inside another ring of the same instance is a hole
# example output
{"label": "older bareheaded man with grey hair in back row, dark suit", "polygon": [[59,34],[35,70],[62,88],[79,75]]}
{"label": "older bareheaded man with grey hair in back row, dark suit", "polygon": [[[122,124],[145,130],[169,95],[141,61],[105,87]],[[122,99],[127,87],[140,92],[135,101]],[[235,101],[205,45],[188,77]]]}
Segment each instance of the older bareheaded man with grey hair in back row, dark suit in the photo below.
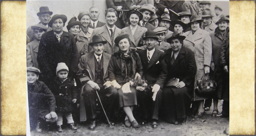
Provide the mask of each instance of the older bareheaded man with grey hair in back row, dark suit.
{"label": "older bareheaded man with grey hair in back row, dark suit", "polygon": [[94,6],[90,7],[89,14],[91,17],[89,28],[95,29],[104,26],[105,23],[98,20],[100,16],[99,8]]}

